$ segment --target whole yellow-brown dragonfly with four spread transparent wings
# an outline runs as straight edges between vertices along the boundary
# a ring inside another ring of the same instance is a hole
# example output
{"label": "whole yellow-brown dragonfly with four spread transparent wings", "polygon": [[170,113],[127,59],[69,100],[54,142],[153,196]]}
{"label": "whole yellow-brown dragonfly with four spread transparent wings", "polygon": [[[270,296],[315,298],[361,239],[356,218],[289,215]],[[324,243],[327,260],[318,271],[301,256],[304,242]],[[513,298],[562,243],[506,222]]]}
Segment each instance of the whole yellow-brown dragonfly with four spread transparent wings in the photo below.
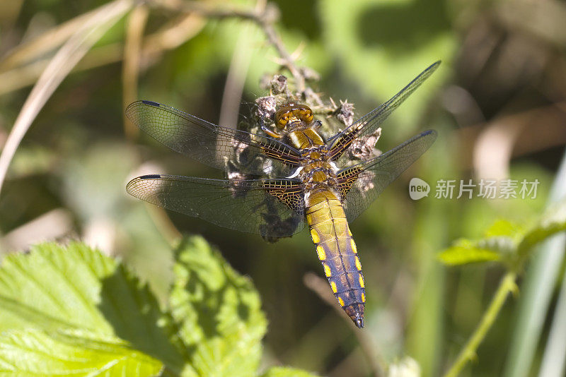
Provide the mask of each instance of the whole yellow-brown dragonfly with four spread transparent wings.
{"label": "whole yellow-brown dragonfly with four spread transparent wings", "polygon": [[[273,124],[250,133],[212,124],[173,107],[141,100],[126,114],[168,148],[228,172],[228,179],[149,174],[127,184],[143,201],[214,225],[262,237],[289,237],[306,225],[338,304],[364,326],[364,275],[349,223],[437,138],[424,131],[378,157],[352,164],[348,148],[381,123],[438,68],[432,64],[390,100],[323,138],[306,104],[282,104]],[[233,161],[238,172],[233,173]],[[349,164],[350,162],[350,164]]]}

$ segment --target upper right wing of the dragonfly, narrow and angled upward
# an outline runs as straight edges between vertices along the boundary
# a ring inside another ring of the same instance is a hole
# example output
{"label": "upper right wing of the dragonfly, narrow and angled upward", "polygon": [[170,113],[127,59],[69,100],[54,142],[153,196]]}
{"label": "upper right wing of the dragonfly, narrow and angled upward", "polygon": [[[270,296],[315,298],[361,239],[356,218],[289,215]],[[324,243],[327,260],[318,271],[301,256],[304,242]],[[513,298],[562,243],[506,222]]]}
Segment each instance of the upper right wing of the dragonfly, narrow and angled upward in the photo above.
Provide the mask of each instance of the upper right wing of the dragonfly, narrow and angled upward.
{"label": "upper right wing of the dragonfly, narrow and angled upward", "polygon": [[[387,119],[387,117],[400,104],[403,103],[423,82],[427,80],[440,65],[440,61],[429,66],[422,71],[419,76],[412,80],[405,88],[401,89],[390,100],[371,110],[368,114],[355,121],[350,127],[344,131],[337,133],[328,141],[330,143],[330,154],[333,155],[332,160],[337,160],[347,150],[350,143],[355,138],[367,136],[376,131],[376,129]],[[342,161],[340,161],[342,162]],[[340,164],[339,164],[340,165]]]}

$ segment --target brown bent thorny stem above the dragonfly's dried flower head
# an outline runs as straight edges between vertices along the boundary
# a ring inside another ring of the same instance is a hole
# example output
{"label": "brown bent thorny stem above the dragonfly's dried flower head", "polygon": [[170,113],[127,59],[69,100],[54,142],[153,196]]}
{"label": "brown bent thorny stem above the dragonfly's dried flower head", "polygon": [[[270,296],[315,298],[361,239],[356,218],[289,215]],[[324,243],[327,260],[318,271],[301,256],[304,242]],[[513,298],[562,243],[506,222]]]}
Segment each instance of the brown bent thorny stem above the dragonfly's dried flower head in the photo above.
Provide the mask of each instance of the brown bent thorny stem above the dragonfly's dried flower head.
{"label": "brown bent thorny stem above the dragonfly's dried flower head", "polygon": [[279,9],[273,4],[267,4],[259,9],[242,9],[223,5],[211,6],[201,1],[180,1],[180,0],[154,0],[149,3],[153,6],[160,6],[171,11],[195,12],[207,18],[243,18],[256,23],[267,38],[272,47],[279,54],[280,64],[287,68],[293,76],[299,94],[309,98],[316,104],[323,106],[322,100],[311,88],[306,86],[306,78],[301,72],[301,68],[296,65],[296,61],[285,48],[281,37],[275,31],[275,23],[279,18]]}

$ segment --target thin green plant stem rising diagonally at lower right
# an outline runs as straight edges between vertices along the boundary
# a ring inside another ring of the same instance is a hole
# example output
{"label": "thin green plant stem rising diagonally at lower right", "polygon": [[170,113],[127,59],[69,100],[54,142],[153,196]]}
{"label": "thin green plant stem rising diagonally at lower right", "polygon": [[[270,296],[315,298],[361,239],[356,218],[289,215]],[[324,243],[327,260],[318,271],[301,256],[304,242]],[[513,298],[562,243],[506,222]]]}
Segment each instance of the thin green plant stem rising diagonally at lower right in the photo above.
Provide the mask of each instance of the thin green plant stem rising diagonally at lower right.
{"label": "thin green plant stem rising diagonally at lower right", "polygon": [[461,350],[460,354],[458,354],[458,358],[454,361],[454,364],[452,364],[451,368],[446,372],[444,377],[458,376],[463,367],[466,366],[466,363],[475,358],[475,350],[478,349],[478,346],[485,338],[487,331],[490,330],[491,326],[495,322],[495,318],[497,318],[499,311],[501,311],[501,308],[505,303],[505,299],[507,299],[507,295],[516,289],[515,279],[516,273],[513,271],[509,271],[504,275],[501,282],[499,282],[499,287],[497,288],[497,292],[495,292],[495,296],[493,297],[490,306],[483,314],[480,324],[473,332],[472,336],[466,343],[466,346]]}

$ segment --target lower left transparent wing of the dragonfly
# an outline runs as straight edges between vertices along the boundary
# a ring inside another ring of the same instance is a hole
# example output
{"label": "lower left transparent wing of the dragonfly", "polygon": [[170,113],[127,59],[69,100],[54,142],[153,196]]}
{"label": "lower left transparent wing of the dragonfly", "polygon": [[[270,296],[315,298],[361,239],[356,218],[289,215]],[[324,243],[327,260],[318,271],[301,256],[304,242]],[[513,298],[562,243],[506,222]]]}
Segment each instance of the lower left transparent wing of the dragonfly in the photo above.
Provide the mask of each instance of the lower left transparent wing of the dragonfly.
{"label": "lower left transparent wing of the dragonfly", "polygon": [[291,179],[228,181],[151,174],[132,179],[126,190],[168,210],[263,237],[286,237],[304,227],[304,196]]}

